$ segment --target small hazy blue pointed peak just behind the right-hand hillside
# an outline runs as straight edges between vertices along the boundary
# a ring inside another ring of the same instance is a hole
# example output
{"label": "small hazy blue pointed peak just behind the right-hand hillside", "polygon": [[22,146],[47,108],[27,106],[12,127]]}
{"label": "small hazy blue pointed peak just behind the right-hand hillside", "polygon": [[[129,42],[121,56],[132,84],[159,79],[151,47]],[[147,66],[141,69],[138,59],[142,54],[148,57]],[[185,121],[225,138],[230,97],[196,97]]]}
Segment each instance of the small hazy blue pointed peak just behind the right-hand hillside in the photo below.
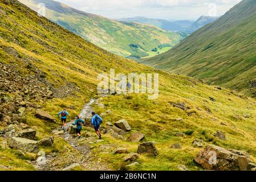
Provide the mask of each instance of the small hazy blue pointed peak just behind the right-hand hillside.
{"label": "small hazy blue pointed peak just behind the right-hand hillside", "polygon": [[218,18],[219,17],[215,16],[200,16],[200,18],[198,18],[196,22],[188,27],[185,32],[188,32],[188,34],[192,34],[194,31],[197,31],[198,29],[204,27],[206,24],[214,22]]}

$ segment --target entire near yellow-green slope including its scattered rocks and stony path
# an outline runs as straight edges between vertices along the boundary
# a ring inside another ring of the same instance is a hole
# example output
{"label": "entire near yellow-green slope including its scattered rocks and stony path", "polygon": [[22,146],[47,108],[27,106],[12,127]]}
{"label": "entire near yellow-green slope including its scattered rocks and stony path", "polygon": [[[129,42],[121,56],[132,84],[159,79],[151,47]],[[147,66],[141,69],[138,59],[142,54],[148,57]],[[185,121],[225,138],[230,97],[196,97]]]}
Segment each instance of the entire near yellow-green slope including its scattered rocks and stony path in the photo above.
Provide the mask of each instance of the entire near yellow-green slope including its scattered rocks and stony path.
{"label": "entire near yellow-green slope including its scattered rocks and stony path", "polygon": [[[125,75],[158,73],[159,98],[148,100],[147,93],[102,96],[97,77],[110,69]],[[82,139],[74,127],[60,127],[57,114],[64,107],[70,113],[68,123],[81,110],[88,111]],[[103,118],[101,139],[90,127],[91,109]],[[195,159],[209,144],[231,148],[224,152],[232,158],[221,159],[229,165],[219,169],[251,170],[256,162],[255,119],[254,98],[125,59],[17,0],[0,1],[1,171],[198,171],[207,169]],[[117,127],[117,121],[128,129]],[[142,137],[133,140],[132,135]],[[153,146],[153,155],[141,144]]]}

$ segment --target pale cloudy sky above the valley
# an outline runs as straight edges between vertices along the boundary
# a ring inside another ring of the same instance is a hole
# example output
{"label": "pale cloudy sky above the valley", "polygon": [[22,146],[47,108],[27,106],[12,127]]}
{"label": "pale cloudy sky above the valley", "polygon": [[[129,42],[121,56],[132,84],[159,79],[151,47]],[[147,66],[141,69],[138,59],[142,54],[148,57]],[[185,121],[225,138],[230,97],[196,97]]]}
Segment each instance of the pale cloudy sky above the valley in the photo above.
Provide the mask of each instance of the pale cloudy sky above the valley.
{"label": "pale cloudy sky above the valley", "polygon": [[55,0],[75,9],[108,18],[145,16],[194,20],[201,15],[223,15],[241,0]]}

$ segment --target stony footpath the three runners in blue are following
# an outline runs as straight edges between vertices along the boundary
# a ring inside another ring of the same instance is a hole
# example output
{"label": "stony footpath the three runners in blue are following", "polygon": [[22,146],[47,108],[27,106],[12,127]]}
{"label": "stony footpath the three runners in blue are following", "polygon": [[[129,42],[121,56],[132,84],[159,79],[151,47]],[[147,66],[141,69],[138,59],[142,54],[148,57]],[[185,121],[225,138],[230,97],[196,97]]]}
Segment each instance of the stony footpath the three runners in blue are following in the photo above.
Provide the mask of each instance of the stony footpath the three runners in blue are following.
{"label": "stony footpath the three runners in blue are following", "polygon": [[[80,117],[82,119],[90,118],[92,108],[91,105],[97,102],[96,99],[92,98],[90,102],[88,102],[82,109],[80,113]],[[72,147],[72,151],[69,151],[67,148],[67,152],[63,155],[60,154],[49,154],[45,155],[42,153],[42,156],[38,158],[36,161],[36,169],[42,171],[49,170],[68,170],[72,167],[80,167],[84,170],[90,171],[109,171],[111,169],[108,168],[108,165],[101,162],[101,159],[98,159],[95,154],[92,154],[91,148],[89,146],[90,143],[103,142],[103,140],[97,139],[96,135],[88,135],[86,138],[78,139],[70,134],[70,128],[72,126],[71,121],[67,123],[67,130],[62,134],[63,138],[70,144]],[[58,131],[62,129],[58,127]]]}

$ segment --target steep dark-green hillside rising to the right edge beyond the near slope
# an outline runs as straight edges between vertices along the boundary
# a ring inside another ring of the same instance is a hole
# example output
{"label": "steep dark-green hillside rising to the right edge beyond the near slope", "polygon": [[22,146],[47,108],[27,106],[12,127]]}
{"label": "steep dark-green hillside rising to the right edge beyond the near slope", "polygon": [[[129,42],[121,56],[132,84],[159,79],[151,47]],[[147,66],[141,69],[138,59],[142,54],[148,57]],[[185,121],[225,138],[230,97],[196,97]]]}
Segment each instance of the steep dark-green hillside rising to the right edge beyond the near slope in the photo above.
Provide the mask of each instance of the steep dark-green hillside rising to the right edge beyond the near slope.
{"label": "steep dark-green hillside rising to the right edge beyond the near slope", "polygon": [[140,63],[255,95],[256,2],[243,0],[170,51]]}

